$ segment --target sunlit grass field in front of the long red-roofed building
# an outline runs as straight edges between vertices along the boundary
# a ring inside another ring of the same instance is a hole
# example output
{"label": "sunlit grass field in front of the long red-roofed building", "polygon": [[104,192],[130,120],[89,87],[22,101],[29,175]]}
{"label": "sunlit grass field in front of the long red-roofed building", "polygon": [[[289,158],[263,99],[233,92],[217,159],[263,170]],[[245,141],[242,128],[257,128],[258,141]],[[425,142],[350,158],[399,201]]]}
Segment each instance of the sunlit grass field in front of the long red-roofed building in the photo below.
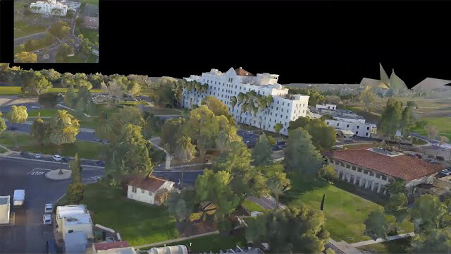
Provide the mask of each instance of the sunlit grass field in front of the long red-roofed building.
{"label": "sunlit grass field in front of the long red-roofed building", "polygon": [[[337,184],[335,183],[335,185]],[[285,196],[282,196],[281,202],[285,205],[304,204],[312,209],[319,210],[321,199],[325,194],[323,212],[327,218],[326,229],[331,238],[335,241],[345,240],[348,243],[371,239],[369,236],[362,235],[365,229],[364,221],[369,212],[376,210],[380,205],[335,185],[330,185],[318,179],[292,181],[292,189]],[[349,188],[356,187],[349,186]],[[412,229],[412,224],[407,222],[407,224],[402,224],[401,227],[404,231],[409,231]]]}

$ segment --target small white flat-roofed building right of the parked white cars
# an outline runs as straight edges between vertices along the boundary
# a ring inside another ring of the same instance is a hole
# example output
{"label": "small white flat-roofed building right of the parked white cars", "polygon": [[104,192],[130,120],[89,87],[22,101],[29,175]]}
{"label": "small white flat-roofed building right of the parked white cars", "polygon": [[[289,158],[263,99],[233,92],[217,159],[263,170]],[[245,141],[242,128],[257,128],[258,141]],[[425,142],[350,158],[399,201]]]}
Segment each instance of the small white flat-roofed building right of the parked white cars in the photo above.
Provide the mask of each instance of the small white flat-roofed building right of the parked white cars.
{"label": "small white flat-roofed building right of the parked white cars", "polygon": [[58,224],[58,232],[63,234],[63,238],[66,237],[66,234],[72,232],[84,232],[87,238],[94,238],[91,214],[89,214],[86,205],[56,207],[56,223]]}

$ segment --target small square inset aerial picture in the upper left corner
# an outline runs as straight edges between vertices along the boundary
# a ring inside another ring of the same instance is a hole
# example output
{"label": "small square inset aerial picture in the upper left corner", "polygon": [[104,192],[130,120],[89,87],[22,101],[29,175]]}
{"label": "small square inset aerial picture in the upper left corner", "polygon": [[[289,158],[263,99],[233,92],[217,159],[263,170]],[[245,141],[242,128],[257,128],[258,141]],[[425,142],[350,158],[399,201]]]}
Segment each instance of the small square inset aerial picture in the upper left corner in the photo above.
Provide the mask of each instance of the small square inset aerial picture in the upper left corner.
{"label": "small square inset aerial picture in the upper left corner", "polygon": [[15,63],[98,63],[99,0],[14,0]]}

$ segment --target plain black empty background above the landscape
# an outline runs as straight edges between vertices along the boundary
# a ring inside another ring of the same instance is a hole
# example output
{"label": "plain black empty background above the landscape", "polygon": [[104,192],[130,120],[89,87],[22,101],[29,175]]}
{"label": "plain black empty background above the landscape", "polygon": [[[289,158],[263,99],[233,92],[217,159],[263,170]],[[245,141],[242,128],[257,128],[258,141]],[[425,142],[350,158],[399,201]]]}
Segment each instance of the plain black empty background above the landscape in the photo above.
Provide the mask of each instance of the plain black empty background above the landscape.
{"label": "plain black empty background above the landscape", "polygon": [[[62,72],[171,75],[242,67],[280,83],[359,83],[381,62],[409,87],[451,80],[450,2],[103,1],[99,63]],[[13,1],[1,0],[1,61],[13,61]]]}

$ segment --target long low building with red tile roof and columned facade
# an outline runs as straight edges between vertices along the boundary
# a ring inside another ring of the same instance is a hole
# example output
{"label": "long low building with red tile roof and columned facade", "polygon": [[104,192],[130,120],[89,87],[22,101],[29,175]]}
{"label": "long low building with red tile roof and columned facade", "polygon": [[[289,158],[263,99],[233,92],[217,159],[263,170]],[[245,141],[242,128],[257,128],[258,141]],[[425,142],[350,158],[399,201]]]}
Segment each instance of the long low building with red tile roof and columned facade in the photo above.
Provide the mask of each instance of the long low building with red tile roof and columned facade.
{"label": "long low building with red tile roof and columned facade", "polygon": [[385,193],[383,187],[396,179],[404,181],[409,195],[421,183],[432,183],[444,166],[426,162],[400,152],[380,147],[357,148],[324,152],[342,181],[361,188]]}

